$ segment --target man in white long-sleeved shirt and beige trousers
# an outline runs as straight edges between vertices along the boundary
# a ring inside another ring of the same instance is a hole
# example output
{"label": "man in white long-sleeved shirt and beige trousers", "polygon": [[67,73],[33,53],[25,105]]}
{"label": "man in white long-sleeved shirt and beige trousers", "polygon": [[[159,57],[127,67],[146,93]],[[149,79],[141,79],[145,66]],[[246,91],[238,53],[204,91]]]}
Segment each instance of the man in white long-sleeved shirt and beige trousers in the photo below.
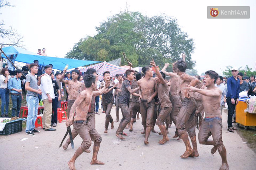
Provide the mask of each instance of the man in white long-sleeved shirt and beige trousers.
{"label": "man in white long-sleeved shirt and beige trousers", "polygon": [[52,85],[52,67],[50,65],[45,66],[45,76],[41,78],[41,88],[42,88],[42,100],[43,100],[43,129],[45,131],[56,131],[56,129],[51,127],[52,121],[52,99],[55,98],[54,88]]}

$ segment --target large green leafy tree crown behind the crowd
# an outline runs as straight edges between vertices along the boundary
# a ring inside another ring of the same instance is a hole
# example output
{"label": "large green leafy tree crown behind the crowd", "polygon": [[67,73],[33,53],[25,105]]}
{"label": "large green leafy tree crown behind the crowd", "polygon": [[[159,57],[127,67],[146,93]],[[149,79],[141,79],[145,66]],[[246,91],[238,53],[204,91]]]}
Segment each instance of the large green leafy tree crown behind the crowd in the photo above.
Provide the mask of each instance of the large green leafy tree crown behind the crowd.
{"label": "large green leafy tree crown behind the crowd", "polygon": [[125,52],[133,67],[149,65],[152,58],[163,67],[164,63],[181,59],[181,53],[185,53],[188,69],[195,65],[191,60],[193,39],[189,39],[171,17],[120,12],[102,22],[96,30],[95,36],[81,39],[66,57],[98,61],[121,57],[122,65],[127,65],[122,54]]}

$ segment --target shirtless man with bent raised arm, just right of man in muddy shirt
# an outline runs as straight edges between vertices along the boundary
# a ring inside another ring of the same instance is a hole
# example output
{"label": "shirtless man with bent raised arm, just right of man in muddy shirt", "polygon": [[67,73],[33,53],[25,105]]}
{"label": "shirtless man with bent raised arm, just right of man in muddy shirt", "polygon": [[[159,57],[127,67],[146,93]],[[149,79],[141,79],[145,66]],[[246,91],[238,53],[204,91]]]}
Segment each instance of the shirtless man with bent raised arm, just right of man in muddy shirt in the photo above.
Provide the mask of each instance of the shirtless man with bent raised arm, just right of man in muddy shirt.
{"label": "shirtless man with bent raised arm, just right of man in muddy shirt", "polygon": [[[176,125],[178,120],[178,115],[181,108],[181,99],[179,95],[180,90],[180,76],[176,73],[176,67],[175,64],[173,64],[173,72],[166,72],[165,69],[169,66],[169,64],[164,64],[163,69],[161,70],[165,75],[170,76],[170,101],[173,106],[173,109],[171,110],[170,114],[170,120],[173,121],[173,123]],[[167,128],[167,126],[166,126]],[[178,129],[176,128],[175,136],[173,138],[179,137],[178,135]],[[180,138],[178,138],[180,139]],[[177,140],[178,140],[177,139]]]}

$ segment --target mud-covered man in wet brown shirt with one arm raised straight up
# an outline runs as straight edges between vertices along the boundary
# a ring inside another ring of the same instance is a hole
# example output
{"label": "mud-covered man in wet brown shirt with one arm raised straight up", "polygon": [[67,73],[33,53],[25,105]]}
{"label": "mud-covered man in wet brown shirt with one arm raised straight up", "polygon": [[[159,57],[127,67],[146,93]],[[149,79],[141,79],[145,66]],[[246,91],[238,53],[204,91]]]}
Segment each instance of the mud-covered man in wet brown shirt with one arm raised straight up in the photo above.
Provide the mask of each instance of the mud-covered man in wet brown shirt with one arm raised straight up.
{"label": "mud-covered man in wet brown shirt with one arm raised straight up", "polygon": [[157,117],[156,125],[158,125],[158,127],[161,131],[161,134],[163,134],[163,139],[161,141],[159,141],[159,144],[164,144],[167,141],[169,141],[169,138],[166,133],[166,127],[164,125],[164,120],[166,120],[168,117],[170,117],[171,109],[173,107],[172,107],[171,101],[170,101],[168,84],[164,80],[165,74],[158,70],[154,61],[151,61],[150,65],[155,68],[156,75],[157,75],[157,77],[156,77],[157,95],[159,98],[161,110]]}

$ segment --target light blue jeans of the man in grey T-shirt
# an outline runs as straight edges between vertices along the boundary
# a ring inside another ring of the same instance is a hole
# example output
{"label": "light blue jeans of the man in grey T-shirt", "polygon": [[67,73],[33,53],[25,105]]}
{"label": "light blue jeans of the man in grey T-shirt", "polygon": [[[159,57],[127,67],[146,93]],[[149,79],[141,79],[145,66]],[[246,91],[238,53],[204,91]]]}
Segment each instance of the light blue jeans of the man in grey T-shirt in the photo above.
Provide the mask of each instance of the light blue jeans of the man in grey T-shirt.
{"label": "light blue jeans of the man in grey T-shirt", "polygon": [[35,122],[38,113],[38,96],[26,96],[28,103],[28,117],[26,132],[33,131],[35,129]]}

